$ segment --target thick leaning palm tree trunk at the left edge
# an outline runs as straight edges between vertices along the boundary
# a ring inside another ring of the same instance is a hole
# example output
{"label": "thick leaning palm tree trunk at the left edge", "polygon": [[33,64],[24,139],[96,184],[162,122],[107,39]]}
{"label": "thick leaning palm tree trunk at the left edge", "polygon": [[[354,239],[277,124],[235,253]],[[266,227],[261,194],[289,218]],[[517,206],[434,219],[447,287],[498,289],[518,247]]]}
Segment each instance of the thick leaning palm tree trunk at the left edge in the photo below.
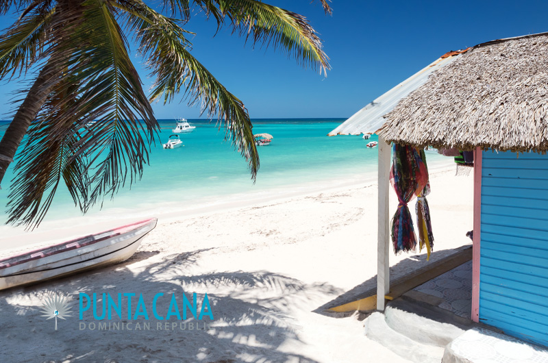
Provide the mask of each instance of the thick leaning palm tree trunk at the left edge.
{"label": "thick leaning palm tree trunk at the left edge", "polygon": [[55,84],[55,75],[58,73],[55,68],[57,67],[49,63],[42,68],[27,93],[25,101],[19,106],[13,121],[5,130],[2,140],[0,140],[0,184],[5,172],[8,170],[8,166],[13,162],[23,136],[27,133],[27,129],[36,118],[38,111],[44,105],[47,95],[49,95]]}

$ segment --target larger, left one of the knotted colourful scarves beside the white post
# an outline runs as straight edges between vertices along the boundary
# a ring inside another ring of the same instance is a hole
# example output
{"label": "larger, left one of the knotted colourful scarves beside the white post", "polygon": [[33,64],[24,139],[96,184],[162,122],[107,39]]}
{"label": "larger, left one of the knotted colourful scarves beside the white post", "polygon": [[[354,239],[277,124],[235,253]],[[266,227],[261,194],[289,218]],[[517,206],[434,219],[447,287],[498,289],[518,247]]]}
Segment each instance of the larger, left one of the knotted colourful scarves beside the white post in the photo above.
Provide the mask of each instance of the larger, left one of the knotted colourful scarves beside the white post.
{"label": "larger, left one of the knotted colourful scarves beside the white post", "polygon": [[[420,161],[419,161],[420,160]],[[419,195],[428,181],[426,166],[421,156],[408,145],[394,144],[390,184],[398,197],[398,208],[392,218],[391,237],[394,252],[415,251],[416,236],[413,219],[407,203]]]}

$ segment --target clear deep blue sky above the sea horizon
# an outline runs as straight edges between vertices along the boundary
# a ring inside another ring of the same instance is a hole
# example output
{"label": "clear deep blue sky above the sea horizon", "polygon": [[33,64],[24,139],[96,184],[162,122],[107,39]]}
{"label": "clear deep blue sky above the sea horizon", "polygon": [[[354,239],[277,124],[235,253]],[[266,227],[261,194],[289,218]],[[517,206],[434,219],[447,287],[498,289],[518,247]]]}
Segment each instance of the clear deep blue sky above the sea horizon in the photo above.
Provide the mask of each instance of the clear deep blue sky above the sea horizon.
{"label": "clear deep blue sky above the sea horizon", "polygon": [[[317,0],[267,2],[310,20],[331,58],[327,77],[272,47],[245,45],[228,27],[214,36],[216,25],[202,14],[186,26],[196,33],[192,54],[245,103],[251,118],[349,117],[447,51],[548,32],[548,1],[333,0],[333,16],[326,16]],[[0,17],[1,27],[10,21],[10,16]],[[148,89],[152,79],[132,55]],[[1,84],[0,118],[9,118],[9,100],[21,85],[18,80]],[[155,116],[199,117],[199,107],[178,101],[153,103]]]}

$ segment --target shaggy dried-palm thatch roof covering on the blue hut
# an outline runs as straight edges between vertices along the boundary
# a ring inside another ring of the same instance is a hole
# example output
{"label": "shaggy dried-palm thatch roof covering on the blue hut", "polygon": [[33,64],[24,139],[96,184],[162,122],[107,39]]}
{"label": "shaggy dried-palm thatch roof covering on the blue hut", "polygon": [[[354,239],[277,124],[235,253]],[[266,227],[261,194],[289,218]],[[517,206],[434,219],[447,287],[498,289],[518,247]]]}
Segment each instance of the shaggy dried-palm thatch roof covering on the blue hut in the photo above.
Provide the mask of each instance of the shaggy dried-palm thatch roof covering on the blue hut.
{"label": "shaggy dried-palm thatch roof covering on the blue hut", "polygon": [[471,48],[384,118],[390,142],[548,151],[548,33]]}

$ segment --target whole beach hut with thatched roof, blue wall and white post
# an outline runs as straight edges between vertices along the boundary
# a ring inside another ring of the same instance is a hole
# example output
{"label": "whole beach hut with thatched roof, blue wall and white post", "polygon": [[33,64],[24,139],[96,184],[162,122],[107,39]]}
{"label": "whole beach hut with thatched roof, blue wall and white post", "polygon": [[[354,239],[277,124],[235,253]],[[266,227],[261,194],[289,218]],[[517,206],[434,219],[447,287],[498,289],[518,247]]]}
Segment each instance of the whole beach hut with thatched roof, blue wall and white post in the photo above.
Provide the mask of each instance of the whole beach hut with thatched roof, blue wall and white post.
{"label": "whole beach hut with thatched roof, blue wall and white post", "polygon": [[390,286],[389,144],[473,151],[471,318],[548,346],[547,54],[548,33],[450,53],[425,82],[393,95],[379,122],[360,119],[362,110],[331,133],[379,136],[378,310]]}

